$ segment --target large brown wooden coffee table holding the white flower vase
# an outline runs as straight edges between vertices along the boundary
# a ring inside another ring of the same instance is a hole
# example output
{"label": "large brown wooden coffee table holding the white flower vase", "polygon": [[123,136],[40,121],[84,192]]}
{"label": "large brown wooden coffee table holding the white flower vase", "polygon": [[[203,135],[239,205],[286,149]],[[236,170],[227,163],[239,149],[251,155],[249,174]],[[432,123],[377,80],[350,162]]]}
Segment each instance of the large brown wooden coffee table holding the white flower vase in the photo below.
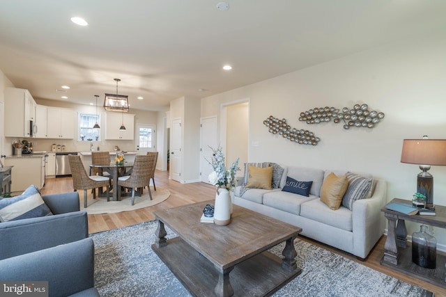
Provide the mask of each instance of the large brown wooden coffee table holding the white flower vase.
{"label": "large brown wooden coffee table holding the white flower vase", "polygon": [[[233,206],[231,223],[200,223],[206,204],[153,214],[158,221],[153,250],[194,296],[269,296],[302,271],[294,239],[302,228]],[[167,240],[167,225],[178,237]],[[286,241],[284,259],[269,248]]]}

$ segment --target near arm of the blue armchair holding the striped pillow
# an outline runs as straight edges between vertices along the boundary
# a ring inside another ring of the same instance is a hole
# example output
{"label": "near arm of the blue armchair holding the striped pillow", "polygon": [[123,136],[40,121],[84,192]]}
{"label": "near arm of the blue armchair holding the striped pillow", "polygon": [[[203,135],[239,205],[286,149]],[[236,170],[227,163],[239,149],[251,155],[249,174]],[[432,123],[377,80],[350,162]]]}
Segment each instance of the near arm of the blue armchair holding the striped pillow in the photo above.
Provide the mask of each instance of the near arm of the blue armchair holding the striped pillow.
{"label": "near arm of the blue armchair holding the striped pillow", "polygon": [[89,236],[85,211],[0,223],[0,259],[52,248]]}

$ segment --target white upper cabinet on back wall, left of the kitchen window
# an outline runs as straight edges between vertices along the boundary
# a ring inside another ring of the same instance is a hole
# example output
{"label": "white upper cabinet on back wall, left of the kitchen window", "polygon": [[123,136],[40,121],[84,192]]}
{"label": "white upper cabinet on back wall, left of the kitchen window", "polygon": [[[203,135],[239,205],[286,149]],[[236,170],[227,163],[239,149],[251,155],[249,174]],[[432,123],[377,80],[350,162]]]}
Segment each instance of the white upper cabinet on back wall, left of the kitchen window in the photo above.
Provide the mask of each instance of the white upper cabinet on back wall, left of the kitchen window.
{"label": "white upper cabinet on back wall, left of the kitchen window", "polygon": [[71,109],[47,107],[47,138],[75,138],[76,113]]}

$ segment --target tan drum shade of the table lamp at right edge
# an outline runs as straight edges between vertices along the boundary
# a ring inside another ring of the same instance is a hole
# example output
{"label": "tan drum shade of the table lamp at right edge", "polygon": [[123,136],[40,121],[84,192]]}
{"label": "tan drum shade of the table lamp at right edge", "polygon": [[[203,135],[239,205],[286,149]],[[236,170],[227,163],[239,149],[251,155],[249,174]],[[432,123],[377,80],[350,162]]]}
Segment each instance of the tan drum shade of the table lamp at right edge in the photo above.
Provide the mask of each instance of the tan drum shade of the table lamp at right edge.
{"label": "tan drum shade of the table lamp at right edge", "polygon": [[446,139],[404,139],[401,163],[446,166]]}

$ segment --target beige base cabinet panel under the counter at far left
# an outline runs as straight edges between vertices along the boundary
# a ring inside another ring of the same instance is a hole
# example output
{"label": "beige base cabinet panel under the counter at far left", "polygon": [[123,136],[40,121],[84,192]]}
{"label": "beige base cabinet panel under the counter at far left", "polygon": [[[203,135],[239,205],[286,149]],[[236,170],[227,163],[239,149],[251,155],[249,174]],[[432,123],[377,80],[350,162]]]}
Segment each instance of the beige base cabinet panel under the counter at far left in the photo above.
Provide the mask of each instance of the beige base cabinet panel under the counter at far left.
{"label": "beige base cabinet panel under the counter at far left", "polygon": [[42,176],[43,155],[7,157],[6,166],[14,166],[11,170],[11,191],[23,192],[33,184],[43,187],[45,177]]}

